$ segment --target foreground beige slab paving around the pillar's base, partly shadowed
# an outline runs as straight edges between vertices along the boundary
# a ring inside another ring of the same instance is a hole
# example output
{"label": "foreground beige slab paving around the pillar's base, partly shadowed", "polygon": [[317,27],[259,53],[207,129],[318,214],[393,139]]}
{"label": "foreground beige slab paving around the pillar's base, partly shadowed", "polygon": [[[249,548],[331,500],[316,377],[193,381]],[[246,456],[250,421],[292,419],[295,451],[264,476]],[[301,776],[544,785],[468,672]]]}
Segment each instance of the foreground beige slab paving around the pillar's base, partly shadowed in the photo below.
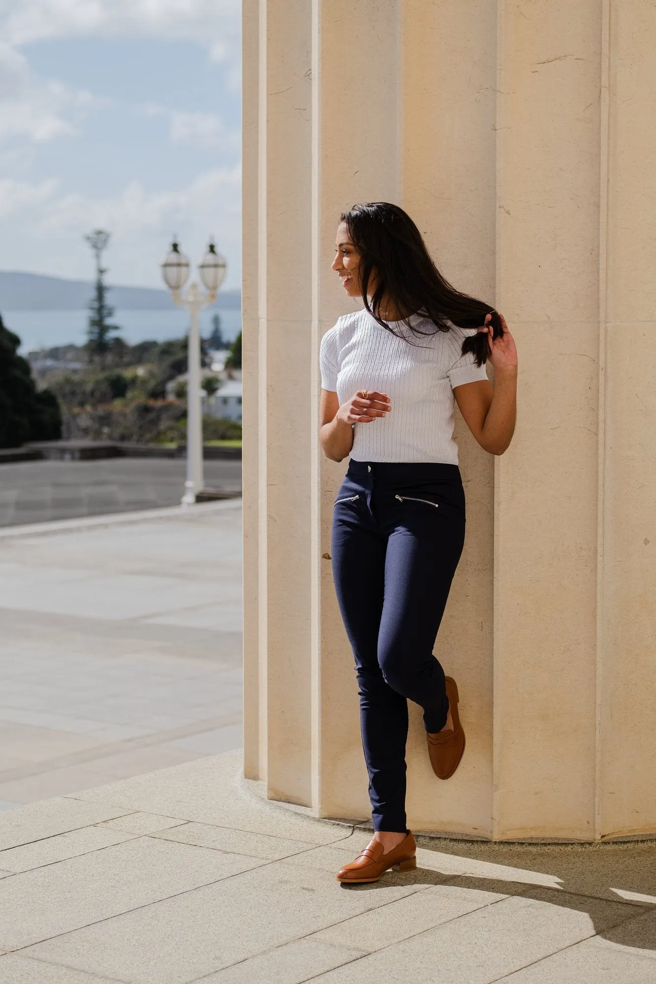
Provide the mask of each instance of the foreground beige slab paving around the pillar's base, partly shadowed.
{"label": "foreground beige slab paving around the pillar's base, partly shadowed", "polygon": [[656,846],[368,839],[267,803],[238,752],[0,815],[3,984],[656,982]]}

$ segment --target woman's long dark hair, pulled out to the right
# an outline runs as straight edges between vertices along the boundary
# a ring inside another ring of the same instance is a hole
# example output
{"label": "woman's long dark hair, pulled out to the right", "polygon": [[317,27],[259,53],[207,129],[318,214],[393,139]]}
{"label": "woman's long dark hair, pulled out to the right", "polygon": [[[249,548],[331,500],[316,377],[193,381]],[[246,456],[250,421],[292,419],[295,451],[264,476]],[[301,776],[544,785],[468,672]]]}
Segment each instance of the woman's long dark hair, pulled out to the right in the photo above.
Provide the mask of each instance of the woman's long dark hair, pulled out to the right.
{"label": "woman's long dark hair, pulled out to the right", "polygon": [[[463,294],[442,277],[426,249],[422,233],[398,205],[367,202],[343,212],[351,240],[360,253],[362,300],[369,314],[393,335],[398,330],[380,317],[385,301],[394,304],[404,315],[402,325],[415,336],[448,332],[452,325],[479,328],[486,315],[492,314],[493,337],[503,334],[498,314],[491,304]],[[368,286],[375,277],[375,289],[368,297]],[[413,314],[421,315],[434,325],[434,331],[418,330],[410,322]],[[407,338],[407,334],[403,333]],[[465,338],[462,352],[473,352],[476,364],[488,361],[488,335]]]}

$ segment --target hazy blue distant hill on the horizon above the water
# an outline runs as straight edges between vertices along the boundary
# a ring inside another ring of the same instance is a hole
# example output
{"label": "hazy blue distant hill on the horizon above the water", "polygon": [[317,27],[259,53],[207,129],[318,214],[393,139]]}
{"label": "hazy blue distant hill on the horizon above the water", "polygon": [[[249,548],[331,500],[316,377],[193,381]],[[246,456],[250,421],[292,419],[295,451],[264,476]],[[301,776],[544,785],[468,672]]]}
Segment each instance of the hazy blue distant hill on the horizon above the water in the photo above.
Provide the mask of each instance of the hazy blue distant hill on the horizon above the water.
{"label": "hazy blue distant hill on the horizon above the water", "polygon": [[[109,283],[108,301],[119,310],[169,311],[174,304],[167,290],[157,287],[121,287]],[[92,297],[94,284],[87,280],[65,280],[41,274],[0,271],[0,312],[83,311]],[[219,292],[216,307],[241,306],[239,290]]]}

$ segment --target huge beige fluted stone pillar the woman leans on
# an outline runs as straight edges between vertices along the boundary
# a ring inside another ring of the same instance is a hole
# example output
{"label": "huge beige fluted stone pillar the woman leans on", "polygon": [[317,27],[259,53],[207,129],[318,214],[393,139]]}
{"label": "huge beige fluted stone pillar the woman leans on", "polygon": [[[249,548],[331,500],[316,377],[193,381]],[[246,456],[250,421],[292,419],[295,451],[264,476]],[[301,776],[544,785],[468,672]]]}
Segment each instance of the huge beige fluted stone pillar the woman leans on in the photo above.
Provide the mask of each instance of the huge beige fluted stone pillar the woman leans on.
{"label": "huge beige fluted stone pillar the woman leans on", "polygon": [[638,0],[244,0],[245,768],[272,798],[368,816],[317,352],[352,303],[339,213],[387,199],[521,358],[507,454],[457,424],[468,533],[435,651],[468,745],[438,782],[411,707],[409,823],[656,830],[654,39]]}

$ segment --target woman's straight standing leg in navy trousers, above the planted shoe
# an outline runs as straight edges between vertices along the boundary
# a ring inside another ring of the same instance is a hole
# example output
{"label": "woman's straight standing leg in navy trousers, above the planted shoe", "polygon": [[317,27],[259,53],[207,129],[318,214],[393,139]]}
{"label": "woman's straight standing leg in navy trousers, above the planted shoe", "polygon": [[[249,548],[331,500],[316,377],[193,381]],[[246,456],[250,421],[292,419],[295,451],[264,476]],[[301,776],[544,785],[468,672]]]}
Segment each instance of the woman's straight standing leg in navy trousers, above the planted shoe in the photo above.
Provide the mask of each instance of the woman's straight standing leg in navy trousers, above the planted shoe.
{"label": "woman's straight standing leg in navy trousers, above the planted shoe", "polygon": [[361,735],[369,775],[374,830],[406,830],[408,704],[385,682],[378,664],[386,541],[357,509],[337,506],[333,518],[333,574],[353,647],[360,692]]}

